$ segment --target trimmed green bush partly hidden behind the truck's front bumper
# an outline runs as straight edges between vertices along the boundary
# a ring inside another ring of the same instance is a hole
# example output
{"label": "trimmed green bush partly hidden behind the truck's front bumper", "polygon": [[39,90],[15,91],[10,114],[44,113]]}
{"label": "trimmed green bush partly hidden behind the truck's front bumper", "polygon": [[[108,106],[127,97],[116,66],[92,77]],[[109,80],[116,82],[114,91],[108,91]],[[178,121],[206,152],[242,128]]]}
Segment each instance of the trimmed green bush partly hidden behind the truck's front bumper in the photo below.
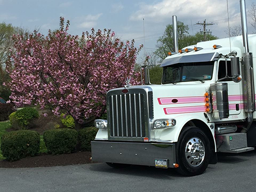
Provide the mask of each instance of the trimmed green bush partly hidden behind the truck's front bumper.
{"label": "trimmed green bush partly hidden behind the truck's front bumper", "polygon": [[91,151],[91,141],[95,139],[98,129],[95,127],[87,127],[78,131],[78,142],[81,150]]}

